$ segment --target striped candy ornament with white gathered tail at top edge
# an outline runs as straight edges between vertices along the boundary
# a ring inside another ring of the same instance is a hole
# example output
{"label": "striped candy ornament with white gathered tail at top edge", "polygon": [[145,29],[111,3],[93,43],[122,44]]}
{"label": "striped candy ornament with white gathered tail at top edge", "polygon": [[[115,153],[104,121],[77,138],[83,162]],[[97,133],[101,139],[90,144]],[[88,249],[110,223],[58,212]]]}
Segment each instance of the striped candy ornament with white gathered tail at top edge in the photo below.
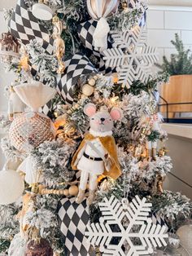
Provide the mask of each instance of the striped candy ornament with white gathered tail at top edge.
{"label": "striped candy ornament with white gathered tail at top edge", "polygon": [[110,31],[106,18],[115,12],[119,6],[118,0],[87,0],[89,15],[94,20],[98,20],[94,31],[95,50],[103,51],[107,49],[107,35]]}

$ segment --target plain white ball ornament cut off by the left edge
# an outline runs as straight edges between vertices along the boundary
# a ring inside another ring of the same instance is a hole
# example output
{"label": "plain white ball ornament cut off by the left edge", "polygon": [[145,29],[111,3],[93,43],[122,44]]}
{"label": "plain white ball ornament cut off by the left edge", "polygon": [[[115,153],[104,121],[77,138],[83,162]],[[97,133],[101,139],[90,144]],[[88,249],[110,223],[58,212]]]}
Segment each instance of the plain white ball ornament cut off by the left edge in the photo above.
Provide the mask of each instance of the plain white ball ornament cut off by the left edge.
{"label": "plain white ball ornament cut off by the left edge", "polygon": [[24,179],[15,170],[0,171],[0,205],[17,201],[24,192]]}

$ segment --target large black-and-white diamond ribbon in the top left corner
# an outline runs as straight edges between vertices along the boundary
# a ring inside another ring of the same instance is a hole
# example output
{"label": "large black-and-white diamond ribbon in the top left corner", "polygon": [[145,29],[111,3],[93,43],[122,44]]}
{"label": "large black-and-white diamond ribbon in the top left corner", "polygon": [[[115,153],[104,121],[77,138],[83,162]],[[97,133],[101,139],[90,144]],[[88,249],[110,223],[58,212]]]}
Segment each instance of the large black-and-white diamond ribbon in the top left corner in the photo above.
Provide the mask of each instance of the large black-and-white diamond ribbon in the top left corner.
{"label": "large black-and-white diamond ribbon in the top left corner", "polygon": [[32,12],[28,11],[24,0],[18,0],[9,22],[9,28],[15,38],[20,39],[24,45],[32,39],[37,39],[47,53],[50,55],[53,53],[53,40],[50,39],[47,30],[38,24]]}

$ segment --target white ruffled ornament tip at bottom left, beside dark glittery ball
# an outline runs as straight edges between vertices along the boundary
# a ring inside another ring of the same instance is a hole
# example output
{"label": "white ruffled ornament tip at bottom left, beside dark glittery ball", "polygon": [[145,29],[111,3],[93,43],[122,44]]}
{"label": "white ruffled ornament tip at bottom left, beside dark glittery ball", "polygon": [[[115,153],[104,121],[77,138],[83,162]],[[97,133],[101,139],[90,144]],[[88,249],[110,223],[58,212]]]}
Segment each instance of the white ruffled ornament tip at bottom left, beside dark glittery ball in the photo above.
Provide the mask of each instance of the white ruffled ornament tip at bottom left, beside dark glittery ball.
{"label": "white ruffled ornament tip at bottom left, beside dark glittery ball", "polygon": [[24,256],[25,249],[27,247],[27,241],[24,240],[19,234],[16,234],[11,241],[11,245],[8,250],[8,256]]}

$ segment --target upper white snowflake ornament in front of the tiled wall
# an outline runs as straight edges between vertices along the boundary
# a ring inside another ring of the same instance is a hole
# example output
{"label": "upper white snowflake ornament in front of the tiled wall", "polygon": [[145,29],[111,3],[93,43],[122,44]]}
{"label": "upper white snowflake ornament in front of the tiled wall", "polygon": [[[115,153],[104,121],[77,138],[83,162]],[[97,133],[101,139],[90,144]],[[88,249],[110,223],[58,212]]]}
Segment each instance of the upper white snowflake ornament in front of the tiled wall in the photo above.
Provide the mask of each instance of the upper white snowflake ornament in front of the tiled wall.
{"label": "upper white snowflake ornament in front of the tiled wall", "polygon": [[103,60],[107,67],[116,67],[118,83],[129,87],[135,80],[146,82],[152,65],[158,60],[156,48],[146,44],[146,29],[136,26],[124,32],[111,33],[111,37],[113,48],[103,51]]}

